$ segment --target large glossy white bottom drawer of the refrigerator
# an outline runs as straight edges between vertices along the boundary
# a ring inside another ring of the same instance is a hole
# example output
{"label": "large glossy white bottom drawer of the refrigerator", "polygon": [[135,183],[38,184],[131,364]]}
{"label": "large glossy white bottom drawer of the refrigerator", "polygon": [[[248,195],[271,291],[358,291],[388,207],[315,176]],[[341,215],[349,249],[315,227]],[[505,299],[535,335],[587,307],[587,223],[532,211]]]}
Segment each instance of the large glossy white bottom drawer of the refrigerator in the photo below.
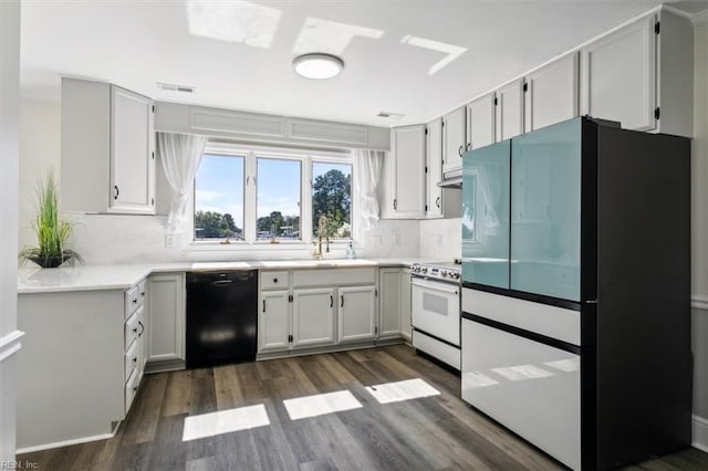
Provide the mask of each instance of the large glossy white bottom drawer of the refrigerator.
{"label": "large glossy white bottom drawer of the refrigerator", "polygon": [[580,356],[462,320],[462,399],[581,467]]}

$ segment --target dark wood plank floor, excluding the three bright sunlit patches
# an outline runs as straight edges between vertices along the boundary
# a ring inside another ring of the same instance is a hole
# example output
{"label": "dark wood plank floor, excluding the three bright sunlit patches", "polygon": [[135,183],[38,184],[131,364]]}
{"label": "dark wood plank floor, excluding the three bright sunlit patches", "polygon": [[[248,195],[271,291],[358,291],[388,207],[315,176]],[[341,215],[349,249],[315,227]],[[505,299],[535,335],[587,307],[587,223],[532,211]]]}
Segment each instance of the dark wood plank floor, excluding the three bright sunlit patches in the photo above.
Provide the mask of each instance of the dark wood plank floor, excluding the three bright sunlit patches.
{"label": "dark wood plank floor, excluding the three bright sunlit patches", "polygon": [[[421,378],[438,396],[378,404],[365,387]],[[554,470],[459,398],[460,379],[405,345],[145,376],[110,440],[25,453],[40,470]],[[283,400],[350,391],[362,407],[291,420]],[[183,442],[185,419],[263,405],[270,425]],[[689,448],[632,470],[708,470]]]}

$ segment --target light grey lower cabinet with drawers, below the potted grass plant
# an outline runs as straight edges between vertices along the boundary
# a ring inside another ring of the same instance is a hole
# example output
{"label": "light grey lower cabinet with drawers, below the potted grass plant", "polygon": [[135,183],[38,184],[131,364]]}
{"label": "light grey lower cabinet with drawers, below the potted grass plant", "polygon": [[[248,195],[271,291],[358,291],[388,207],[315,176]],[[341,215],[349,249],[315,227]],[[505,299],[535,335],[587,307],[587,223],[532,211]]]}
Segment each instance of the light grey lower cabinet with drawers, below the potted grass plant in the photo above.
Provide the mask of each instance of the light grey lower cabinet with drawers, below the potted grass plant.
{"label": "light grey lower cabinet with drawers, below the potted grass plant", "polygon": [[125,419],[144,371],[145,292],[140,282],[18,295],[27,333],[17,368],[20,452],[107,438]]}

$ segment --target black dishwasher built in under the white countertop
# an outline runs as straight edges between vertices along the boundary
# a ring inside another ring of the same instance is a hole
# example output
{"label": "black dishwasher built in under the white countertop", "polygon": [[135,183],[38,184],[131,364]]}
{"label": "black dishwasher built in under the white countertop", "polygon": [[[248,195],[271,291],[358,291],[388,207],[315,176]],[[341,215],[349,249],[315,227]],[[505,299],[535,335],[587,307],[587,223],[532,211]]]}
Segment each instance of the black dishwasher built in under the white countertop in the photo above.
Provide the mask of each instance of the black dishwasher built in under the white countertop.
{"label": "black dishwasher built in under the white countertop", "polygon": [[258,271],[187,273],[187,368],[256,359]]}

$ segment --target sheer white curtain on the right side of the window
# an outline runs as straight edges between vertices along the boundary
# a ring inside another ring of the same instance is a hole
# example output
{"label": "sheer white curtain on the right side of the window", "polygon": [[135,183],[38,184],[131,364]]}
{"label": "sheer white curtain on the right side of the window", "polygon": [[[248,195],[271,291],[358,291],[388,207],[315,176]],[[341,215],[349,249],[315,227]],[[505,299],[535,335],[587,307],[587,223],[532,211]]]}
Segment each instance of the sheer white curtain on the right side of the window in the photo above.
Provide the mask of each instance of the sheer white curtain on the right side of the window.
{"label": "sheer white curtain on the right side of the window", "polygon": [[378,222],[378,200],[376,188],[381,178],[381,168],[384,163],[383,150],[354,150],[356,165],[357,193],[360,196],[362,229],[374,229]]}

